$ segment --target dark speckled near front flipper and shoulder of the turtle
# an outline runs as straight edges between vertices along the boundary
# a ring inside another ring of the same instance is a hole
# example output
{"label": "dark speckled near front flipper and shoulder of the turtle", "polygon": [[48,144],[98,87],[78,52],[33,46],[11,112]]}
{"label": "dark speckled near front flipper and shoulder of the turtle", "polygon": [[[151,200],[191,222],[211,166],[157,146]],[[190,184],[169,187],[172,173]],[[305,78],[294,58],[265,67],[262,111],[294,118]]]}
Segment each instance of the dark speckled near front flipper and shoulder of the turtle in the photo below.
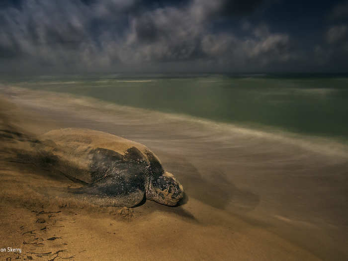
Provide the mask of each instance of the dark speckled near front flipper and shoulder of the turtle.
{"label": "dark speckled near front flipper and shoulder of the turtle", "polygon": [[71,192],[104,206],[132,207],[144,199],[144,170],[148,164],[140,151],[132,147],[121,155],[96,148],[89,154],[92,182],[85,187],[72,188]]}

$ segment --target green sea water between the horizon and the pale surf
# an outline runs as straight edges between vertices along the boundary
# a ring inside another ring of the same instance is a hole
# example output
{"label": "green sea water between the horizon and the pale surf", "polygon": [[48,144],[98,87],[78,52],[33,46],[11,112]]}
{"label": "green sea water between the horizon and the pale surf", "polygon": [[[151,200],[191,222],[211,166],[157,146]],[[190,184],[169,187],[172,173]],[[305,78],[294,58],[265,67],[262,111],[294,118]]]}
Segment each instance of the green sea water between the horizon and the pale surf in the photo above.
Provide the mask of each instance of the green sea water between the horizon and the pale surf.
{"label": "green sea water between the horizon and the pale surf", "polygon": [[69,76],[2,79],[258,129],[348,140],[347,76]]}

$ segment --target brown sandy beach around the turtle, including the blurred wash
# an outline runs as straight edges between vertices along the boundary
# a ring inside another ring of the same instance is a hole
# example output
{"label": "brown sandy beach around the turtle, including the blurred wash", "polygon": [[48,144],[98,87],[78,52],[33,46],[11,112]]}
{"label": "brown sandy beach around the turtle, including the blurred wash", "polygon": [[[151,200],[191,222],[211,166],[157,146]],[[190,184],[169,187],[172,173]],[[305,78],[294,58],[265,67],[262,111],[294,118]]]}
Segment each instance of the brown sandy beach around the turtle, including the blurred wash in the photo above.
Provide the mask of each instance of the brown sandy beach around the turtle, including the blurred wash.
{"label": "brown sandy beach around the turtle, including the blurred wash", "polygon": [[[51,260],[57,255],[71,260],[348,257],[348,152],[340,143],[252,131],[62,93],[18,88],[1,93],[8,100],[1,102],[1,129],[15,128],[35,138],[52,129],[81,127],[134,140],[155,152],[186,193],[177,207],[146,201],[132,213],[122,214],[119,208],[60,197],[50,188],[74,183],[34,165],[6,161],[8,148],[25,142],[11,143],[3,137],[0,248],[21,248],[22,259]],[[57,239],[47,240],[52,237]]]}

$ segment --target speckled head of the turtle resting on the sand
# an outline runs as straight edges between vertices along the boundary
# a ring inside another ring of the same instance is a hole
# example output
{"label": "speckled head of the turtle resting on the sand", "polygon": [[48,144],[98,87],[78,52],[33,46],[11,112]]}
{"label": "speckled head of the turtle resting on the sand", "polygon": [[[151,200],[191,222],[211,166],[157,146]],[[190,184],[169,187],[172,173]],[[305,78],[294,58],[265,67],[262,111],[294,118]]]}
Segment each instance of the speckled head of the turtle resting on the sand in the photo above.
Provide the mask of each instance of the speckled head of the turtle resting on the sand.
{"label": "speckled head of the turtle resting on the sand", "polygon": [[167,206],[175,206],[183,197],[183,187],[173,174],[165,172],[151,180],[146,198]]}

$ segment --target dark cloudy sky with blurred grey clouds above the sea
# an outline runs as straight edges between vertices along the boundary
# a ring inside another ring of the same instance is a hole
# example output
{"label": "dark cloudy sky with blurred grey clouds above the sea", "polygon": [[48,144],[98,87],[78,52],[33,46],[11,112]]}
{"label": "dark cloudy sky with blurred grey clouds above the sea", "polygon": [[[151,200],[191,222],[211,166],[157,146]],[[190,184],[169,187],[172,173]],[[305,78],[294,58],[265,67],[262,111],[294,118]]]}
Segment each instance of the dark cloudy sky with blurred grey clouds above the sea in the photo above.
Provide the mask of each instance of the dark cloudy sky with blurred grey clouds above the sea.
{"label": "dark cloudy sky with blurred grey clouds above the sea", "polygon": [[1,0],[0,72],[347,73],[348,1]]}

